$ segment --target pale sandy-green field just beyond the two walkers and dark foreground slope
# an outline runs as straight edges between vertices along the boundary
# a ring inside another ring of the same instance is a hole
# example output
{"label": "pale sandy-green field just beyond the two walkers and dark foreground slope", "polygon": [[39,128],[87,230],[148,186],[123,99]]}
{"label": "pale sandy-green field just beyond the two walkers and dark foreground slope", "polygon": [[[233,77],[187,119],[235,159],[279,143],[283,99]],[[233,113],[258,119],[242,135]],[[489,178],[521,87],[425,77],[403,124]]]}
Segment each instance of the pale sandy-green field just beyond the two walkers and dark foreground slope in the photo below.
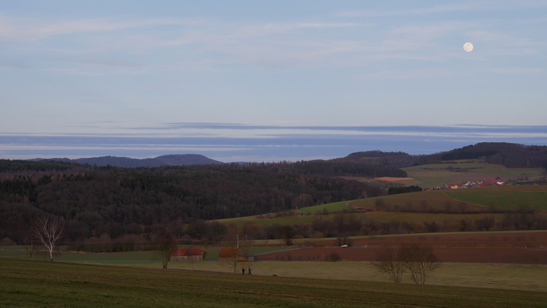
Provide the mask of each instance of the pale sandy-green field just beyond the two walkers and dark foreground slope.
{"label": "pale sandy-green field just beyond the two walkers and dark foreground slope", "polygon": [[[243,264],[253,269],[253,275],[279,277],[300,277],[313,279],[334,279],[350,281],[389,282],[388,278],[379,274],[368,262],[287,262],[287,261],[255,261]],[[143,265],[137,265],[143,266]],[[161,264],[144,265],[160,267]],[[170,269],[191,270],[189,262],[171,262]],[[217,261],[202,261],[194,263],[195,271],[226,272],[232,270]],[[241,267],[238,268],[241,275]],[[490,264],[450,264],[439,267],[429,278],[427,284],[439,286],[467,286],[479,288],[499,288],[513,290],[545,290],[547,289],[547,267],[542,265],[490,265]],[[403,278],[404,283],[411,283],[409,277]]]}

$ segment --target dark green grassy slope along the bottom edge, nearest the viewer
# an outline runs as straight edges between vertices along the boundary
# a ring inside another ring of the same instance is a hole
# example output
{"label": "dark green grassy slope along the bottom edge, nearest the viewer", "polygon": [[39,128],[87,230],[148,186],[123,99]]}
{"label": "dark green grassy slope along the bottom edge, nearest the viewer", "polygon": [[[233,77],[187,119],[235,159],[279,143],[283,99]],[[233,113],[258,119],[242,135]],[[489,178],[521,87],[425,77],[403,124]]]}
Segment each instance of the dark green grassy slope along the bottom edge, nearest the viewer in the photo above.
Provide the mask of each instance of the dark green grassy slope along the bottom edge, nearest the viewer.
{"label": "dark green grassy slope along the bottom edge, nearest the viewer", "polygon": [[0,307],[544,307],[547,293],[0,260]]}

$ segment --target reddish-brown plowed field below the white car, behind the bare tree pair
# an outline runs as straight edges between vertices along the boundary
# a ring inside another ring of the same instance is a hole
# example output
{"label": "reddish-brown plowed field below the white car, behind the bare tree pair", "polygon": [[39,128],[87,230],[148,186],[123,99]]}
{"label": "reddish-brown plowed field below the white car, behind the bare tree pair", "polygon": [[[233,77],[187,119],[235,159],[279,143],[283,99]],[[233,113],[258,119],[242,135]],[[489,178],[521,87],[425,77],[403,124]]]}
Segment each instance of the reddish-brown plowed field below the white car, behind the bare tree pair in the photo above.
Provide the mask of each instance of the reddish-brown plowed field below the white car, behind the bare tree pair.
{"label": "reddish-brown plowed field below the white car, behind the bare tree pair", "polygon": [[[342,261],[375,261],[376,255],[385,248],[306,247],[290,251],[255,255],[254,259],[269,261],[326,261],[329,254],[340,255]],[[544,248],[460,248],[434,247],[434,254],[441,262],[547,264]]]}

